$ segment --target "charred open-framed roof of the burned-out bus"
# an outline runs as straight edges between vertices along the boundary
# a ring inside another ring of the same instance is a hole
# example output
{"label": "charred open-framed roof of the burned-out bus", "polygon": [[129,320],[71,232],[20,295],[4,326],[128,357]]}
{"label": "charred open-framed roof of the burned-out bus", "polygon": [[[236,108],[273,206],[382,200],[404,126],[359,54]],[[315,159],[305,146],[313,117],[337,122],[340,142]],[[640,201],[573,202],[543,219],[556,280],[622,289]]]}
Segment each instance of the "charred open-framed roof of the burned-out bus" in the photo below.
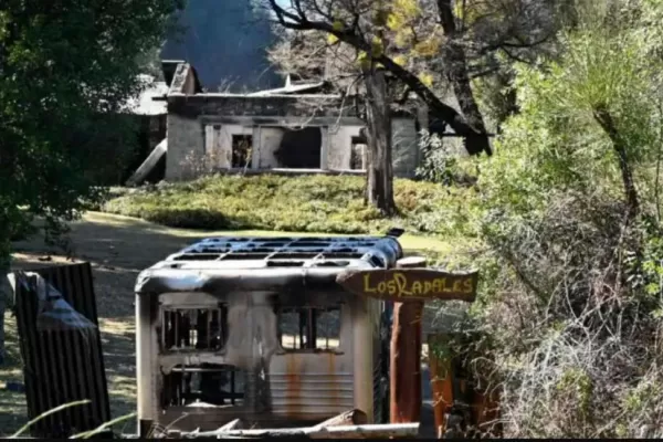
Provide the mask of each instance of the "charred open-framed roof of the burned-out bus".
{"label": "charred open-framed roof of the burned-out bus", "polygon": [[329,285],[344,270],[393,267],[402,254],[391,235],[208,238],[141,272],[136,293]]}

